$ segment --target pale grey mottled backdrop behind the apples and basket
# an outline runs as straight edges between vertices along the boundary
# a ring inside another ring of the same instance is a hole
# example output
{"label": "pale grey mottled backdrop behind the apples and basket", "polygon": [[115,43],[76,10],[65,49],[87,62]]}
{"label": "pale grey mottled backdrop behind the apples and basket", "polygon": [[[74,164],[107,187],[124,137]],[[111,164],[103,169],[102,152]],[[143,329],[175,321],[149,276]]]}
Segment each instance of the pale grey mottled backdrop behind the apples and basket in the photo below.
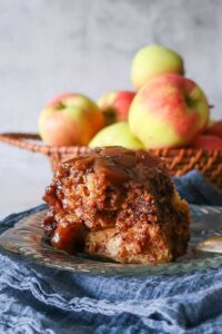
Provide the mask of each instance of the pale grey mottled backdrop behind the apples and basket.
{"label": "pale grey mottled backdrop behind the apples and basket", "polygon": [[[97,99],[131,89],[132,56],[150,42],[183,55],[186,76],[222,117],[221,0],[0,0],[0,130],[37,130],[61,91]],[[0,214],[39,203],[47,160],[0,148]]]}

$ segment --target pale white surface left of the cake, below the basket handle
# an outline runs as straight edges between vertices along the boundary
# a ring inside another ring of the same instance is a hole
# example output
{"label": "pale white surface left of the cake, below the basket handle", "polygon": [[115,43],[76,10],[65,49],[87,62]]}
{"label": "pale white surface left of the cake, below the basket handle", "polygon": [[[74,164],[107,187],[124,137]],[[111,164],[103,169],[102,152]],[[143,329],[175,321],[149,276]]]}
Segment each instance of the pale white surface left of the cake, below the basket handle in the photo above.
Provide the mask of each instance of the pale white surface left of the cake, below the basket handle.
{"label": "pale white surface left of the cake, below the basket handle", "polygon": [[0,219],[41,204],[51,178],[47,157],[0,144]]}

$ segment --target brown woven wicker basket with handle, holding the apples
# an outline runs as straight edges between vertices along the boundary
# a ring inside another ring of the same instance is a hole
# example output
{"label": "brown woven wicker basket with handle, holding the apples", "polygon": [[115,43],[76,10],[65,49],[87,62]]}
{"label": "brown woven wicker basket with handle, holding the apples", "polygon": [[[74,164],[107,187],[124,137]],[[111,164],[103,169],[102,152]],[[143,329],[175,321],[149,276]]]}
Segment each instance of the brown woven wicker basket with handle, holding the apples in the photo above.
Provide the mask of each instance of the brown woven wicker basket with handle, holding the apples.
{"label": "brown woven wicker basket with handle, holding the apples", "polygon": [[[48,156],[53,170],[61,161],[91,150],[84,146],[46,146],[40,136],[36,134],[2,134],[0,141]],[[152,149],[151,151],[167,161],[172,176],[180,176],[191,169],[198,169],[214,185],[222,188],[222,150],[180,148]]]}

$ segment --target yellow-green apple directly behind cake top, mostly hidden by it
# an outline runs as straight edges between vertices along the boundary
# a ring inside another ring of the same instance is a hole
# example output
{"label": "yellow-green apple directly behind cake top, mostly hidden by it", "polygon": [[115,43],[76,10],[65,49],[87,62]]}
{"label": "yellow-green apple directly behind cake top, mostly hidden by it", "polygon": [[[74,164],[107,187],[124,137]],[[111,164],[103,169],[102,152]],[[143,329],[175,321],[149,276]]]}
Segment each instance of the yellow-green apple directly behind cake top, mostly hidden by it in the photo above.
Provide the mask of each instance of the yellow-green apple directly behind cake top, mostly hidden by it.
{"label": "yellow-green apple directly behind cake top, mostly hidden by it", "polygon": [[123,146],[125,148],[143,148],[143,145],[130,131],[127,121],[120,121],[107,126],[100,130],[89,144],[90,147]]}

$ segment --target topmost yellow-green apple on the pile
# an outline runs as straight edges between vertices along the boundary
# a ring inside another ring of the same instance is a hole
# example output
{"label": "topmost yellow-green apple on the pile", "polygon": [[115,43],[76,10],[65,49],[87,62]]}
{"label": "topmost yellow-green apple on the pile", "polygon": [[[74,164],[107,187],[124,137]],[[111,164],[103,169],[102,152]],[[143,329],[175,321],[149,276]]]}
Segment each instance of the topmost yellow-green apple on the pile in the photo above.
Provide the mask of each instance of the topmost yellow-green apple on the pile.
{"label": "topmost yellow-green apple on the pile", "polygon": [[141,48],[131,66],[131,80],[137,89],[163,73],[184,73],[183,59],[175,51],[160,45]]}

